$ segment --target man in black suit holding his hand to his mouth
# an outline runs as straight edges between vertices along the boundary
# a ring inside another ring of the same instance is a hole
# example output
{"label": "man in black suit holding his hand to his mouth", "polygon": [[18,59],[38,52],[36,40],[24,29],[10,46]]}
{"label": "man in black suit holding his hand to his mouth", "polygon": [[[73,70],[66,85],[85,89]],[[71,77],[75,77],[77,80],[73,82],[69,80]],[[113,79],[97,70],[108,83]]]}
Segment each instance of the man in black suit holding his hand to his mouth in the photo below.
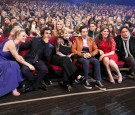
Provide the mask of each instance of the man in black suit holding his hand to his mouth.
{"label": "man in black suit holding his hand to his mouth", "polygon": [[[50,28],[44,28],[41,32],[41,38],[35,37],[29,42],[20,45],[20,50],[30,50],[26,54],[25,60],[38,70],[37,79],[35,79],[30,69],[25,65],[22,66],[22,74],[32,83],[32,86],[26,88],[24,92],[37,90],[41,87],[41,82],[46,76],[46,68],[51,54],[51,46],[49,44],[51,34]],[[42,85],[42,88],[45,89],[45,85]]]}

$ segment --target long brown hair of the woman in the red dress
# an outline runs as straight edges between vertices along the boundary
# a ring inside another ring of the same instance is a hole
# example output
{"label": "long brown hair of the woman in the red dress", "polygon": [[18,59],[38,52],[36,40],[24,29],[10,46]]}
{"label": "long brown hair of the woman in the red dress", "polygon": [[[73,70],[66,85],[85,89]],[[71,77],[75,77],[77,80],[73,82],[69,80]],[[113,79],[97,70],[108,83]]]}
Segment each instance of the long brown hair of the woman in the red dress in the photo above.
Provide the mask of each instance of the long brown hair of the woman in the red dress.
{"label": "long brown hair of the woman in the red dress", "polygon": [[106,40],[107,40],[108,44],[111,45],[110,30],[109,30],[109,28],[108,28],[107,26],[102,26],[101,29],[100,29],[100,31],[99,31],[99,35],[98,35],[98,37],[96,38],[96,43],[97,43],[97,46],[98,46],[98,47],[100,47],[99,44],[100,44],[100,42],[103,40],[103,37],[102,37],[101,32],[103,32],[105,29],[107,29],[107,30],[109,31],[109,35],[108,35],[108,37],[106,38]]}

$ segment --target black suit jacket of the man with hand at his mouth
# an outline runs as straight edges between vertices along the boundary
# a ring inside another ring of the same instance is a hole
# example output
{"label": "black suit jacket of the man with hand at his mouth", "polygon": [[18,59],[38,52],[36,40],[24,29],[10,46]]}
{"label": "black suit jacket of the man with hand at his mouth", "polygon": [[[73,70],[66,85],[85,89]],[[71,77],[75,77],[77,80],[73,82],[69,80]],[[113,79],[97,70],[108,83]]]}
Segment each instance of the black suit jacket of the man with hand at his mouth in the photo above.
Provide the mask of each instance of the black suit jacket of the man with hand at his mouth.
{"label": "black suit jacket of the man with hand at his mouth", "polygon": [[29,52],[24,58],[34,60],[38,55],[38,58],[35,61],[43,60],[48,62],[52,52],[50,44],[45,43],[43,39],[39,37],[34,37],[32,40],[20,45],[20,51],[27,49],[29,49]]}

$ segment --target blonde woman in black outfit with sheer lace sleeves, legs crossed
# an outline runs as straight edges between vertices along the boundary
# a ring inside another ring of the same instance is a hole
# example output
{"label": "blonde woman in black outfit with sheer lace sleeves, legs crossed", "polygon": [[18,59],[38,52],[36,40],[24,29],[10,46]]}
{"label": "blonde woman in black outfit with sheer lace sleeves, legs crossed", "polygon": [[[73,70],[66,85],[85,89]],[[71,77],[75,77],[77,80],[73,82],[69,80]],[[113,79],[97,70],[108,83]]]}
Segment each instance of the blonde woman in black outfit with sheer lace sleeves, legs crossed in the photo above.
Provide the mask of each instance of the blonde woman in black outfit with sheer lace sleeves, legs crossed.
{"label": "blonde woman in black outfit with sheer lace sleeves, legs crossed", "polygon": [[63,38],[58,38],[56,42],[56,54],[53,55],[51,61],[63,67],[63,85],[67,91],[70,91],[73,80],[81,79],[82,76],[78,75],[77,67],[71,61],[73,53],[71,53],[72,43],[69,41],[69,29],[64,29],[62,34]]}

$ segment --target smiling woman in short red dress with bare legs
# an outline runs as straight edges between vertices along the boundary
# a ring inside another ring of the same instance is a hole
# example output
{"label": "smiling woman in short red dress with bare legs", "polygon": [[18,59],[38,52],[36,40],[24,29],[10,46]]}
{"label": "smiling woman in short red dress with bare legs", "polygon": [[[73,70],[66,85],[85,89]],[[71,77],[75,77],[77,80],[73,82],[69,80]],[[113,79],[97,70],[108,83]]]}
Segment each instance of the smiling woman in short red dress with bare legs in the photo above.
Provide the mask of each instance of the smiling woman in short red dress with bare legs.
{"label": "smiling woman in short red dress with bare legs", "polygon": [[112,68],[118,74],[118,83],[122,82],[122,75],[119,71],[118,65],[118,56],[115,53],[116,43],[112,37],[110,37],[109,28],[103,26],[100,30],[99,36],[96,39],[97,46],[99,47],[100,58],[99,60],[103,62],[106,66],[110,82],[115,84],[114,78],[111,73]]}

